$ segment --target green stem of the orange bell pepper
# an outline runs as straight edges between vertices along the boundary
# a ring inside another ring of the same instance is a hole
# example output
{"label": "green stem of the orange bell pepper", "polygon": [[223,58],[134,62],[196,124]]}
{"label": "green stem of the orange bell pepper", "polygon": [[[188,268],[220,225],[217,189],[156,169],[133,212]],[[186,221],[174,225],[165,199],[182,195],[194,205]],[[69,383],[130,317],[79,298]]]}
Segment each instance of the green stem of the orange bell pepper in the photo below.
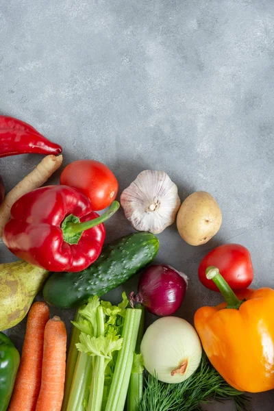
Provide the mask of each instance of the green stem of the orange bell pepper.
{"label": "green stem of the orange bell pepper", "polygon": [[212,281],[219,288],[223,298],[227,301],[226,308],[235,308],[236,310],[240,308],[244,300],[241,301],[236,297],[234,291],[229,287],[217,267],[209,266],[206,269],[206,277],[207,279],[212,279]]}

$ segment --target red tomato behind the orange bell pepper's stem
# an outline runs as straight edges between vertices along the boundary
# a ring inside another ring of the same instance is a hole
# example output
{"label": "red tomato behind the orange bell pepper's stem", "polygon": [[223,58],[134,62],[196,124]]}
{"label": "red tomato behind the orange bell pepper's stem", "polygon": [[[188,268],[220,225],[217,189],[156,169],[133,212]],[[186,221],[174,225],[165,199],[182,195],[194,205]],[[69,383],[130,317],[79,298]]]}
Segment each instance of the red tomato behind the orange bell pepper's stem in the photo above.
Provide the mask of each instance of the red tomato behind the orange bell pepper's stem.
{"label": "red tomato behind the orange bell pepper's stem", "polygon": [[219,291],[212,279],[206,278],[208,266],[216,266],[232,290],[247,288],[253,280],[250,253],[239,244],[219,245],[201,260],[198,270],[201,284],[209,290]]}

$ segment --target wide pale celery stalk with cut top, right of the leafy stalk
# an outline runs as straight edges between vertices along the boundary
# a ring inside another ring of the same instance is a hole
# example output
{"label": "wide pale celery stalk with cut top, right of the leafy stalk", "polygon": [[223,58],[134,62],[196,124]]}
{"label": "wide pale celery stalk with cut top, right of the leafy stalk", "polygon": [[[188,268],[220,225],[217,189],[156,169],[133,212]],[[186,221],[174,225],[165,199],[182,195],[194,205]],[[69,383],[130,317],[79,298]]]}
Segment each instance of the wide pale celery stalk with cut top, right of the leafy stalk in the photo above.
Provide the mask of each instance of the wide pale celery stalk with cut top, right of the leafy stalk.
{"label": "wide pale celery stalk with cut top, right of the leafy stalk", "polygon": [[122,334],[123,345],[118,354],[105,411],[123,411],[125,407],[141,316],[142,310],[136,308],[126,310]]}

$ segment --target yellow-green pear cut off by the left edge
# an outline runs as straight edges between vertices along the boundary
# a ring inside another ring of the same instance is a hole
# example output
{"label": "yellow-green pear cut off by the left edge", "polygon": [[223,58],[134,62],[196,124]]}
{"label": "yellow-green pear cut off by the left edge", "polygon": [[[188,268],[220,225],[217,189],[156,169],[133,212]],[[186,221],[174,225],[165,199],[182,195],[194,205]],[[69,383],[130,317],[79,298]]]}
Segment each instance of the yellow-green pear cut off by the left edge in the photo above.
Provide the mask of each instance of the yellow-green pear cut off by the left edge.
{"label": "yellow-green pear cut off by the left edge", "polygon": [[0,331],[23,320],[48,276],[49,271],[22,260],[0,264]]}

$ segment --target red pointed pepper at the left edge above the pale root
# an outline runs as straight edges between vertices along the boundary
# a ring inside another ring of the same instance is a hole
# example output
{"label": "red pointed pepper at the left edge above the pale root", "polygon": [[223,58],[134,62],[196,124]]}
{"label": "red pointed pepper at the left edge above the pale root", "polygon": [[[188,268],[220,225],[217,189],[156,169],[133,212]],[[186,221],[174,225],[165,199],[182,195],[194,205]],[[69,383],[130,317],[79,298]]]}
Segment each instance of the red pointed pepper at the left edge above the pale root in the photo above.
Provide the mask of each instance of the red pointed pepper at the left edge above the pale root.
{"label": "red pointed pepper at the left edge above the pale root", "polygon": [[24,153],[57,155],[62,147],[23,121],[0,116],[0,158]]}

